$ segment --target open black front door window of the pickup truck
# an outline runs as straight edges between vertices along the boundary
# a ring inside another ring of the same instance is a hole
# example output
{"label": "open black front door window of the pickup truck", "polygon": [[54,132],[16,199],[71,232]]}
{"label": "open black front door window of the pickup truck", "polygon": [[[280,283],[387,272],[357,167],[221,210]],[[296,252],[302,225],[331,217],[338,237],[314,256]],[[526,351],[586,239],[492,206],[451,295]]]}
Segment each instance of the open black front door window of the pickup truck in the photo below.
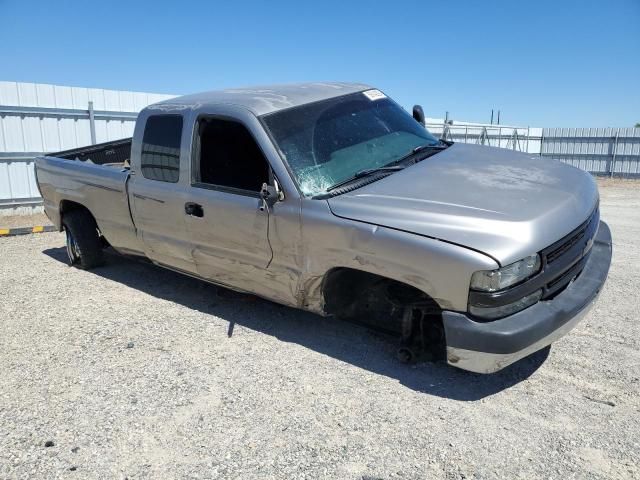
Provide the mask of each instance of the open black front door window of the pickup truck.
{"label": "open black front door window of the pickup truck", "polygon": [[198,132],[196,182],[257,193],[269,181],[269,164],[244,125],[205,118],[198,122]]}

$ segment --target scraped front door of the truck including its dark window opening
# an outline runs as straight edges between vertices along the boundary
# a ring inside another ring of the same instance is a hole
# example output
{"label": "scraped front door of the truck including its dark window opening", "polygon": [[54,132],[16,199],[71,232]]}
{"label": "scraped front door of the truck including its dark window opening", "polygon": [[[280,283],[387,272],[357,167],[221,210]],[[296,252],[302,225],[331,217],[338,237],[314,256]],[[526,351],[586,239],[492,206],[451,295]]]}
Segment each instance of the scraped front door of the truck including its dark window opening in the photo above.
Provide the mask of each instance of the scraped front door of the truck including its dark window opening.
{"label": "scraped front door of the truck including its dark window opening", "polygon": [[259,192],[269,165],[239,122],[198,120],[193,178],[185,218],[198,274],[232,287],[264,292],[269,209]]}

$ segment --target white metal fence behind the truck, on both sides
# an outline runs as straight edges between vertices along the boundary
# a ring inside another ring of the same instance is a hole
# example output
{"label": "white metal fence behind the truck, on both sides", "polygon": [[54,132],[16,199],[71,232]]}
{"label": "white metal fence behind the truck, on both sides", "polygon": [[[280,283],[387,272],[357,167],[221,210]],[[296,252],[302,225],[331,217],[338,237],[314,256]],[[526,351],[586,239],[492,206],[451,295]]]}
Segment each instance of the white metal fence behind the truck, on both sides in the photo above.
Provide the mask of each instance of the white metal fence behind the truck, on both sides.
{"label": "white metal fence behind the truck, on both sides", "polygon": [[[129,137],[140,110],[173,95],[0,82],[0,215],[40,205],[33,159]],[[430,122],[437,136],[533,153],[597,175],[640,176],[640,129]]]}

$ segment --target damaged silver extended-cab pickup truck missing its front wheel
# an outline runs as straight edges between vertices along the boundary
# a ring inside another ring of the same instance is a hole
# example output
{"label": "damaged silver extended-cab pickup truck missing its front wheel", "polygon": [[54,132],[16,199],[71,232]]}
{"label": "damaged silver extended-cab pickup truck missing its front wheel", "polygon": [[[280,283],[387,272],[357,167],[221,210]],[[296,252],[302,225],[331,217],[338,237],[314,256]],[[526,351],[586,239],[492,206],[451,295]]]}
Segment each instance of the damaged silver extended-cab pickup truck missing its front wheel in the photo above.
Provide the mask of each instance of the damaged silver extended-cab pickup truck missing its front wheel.
{"label": "damaged silver extended-cab pickup truck missing its front wheel", "polygon": [[498,371],[569,331],[607,277],[593,178],[446,142],[383,92],[309,83],[145,108],[134,136],[36,160],[69,262],[103,249]]}

